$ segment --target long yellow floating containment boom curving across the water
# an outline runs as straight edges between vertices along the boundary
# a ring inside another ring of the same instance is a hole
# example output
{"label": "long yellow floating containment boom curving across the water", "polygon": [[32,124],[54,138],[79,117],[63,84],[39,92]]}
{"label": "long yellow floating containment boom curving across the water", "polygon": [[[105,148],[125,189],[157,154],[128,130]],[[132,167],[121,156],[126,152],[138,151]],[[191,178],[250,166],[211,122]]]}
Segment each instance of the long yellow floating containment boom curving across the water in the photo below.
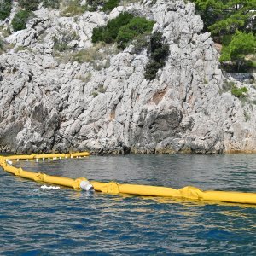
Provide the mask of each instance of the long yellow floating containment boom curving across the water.
{"label": "long yellow floating containment boom curving across the water", "polygon": [[28,154],[28,155],[9,155],[0,156],[0,166],[4,171],[10,172],[15,176],[25,177],[42,183],[52,183],[73,189],[94,189],[107,194],[129,194],[143,196],[161,196],[178,199],[189,199],[199,201],[222,201],[232,203],[244,203],[256,205],[256,193],[228,192],[228,191],[202,191],[195,187],[184,187],[183,189],[172,189],[148,185],[119,184],[115,182],[102,183],[88,181],[85,177],[76,179],[69,177],[51,176],[41,172],[29,172],[22,168],[12,166],[12,160],[50,160],[87,157],[90,153],[72,154]]}

